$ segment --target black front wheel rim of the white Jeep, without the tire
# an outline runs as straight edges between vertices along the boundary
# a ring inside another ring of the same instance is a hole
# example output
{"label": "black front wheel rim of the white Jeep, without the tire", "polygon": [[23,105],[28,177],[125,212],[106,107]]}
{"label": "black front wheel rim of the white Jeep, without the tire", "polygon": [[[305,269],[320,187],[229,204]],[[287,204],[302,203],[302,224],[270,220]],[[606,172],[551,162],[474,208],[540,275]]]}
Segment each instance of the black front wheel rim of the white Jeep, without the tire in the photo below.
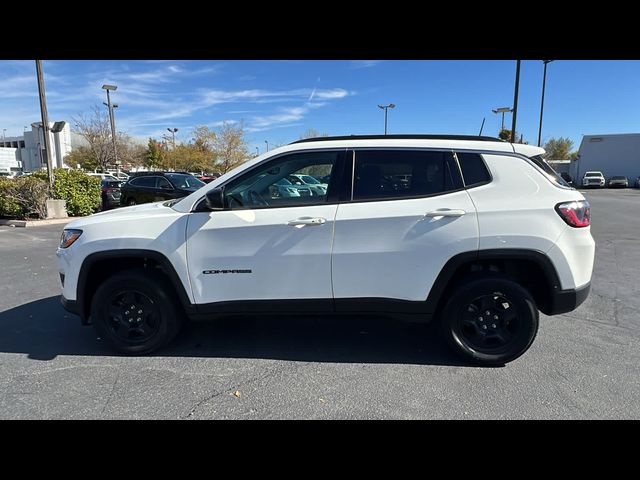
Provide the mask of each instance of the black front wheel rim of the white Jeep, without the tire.
{"label": "black front wheel rim of the white Jeep, without the tire", "polygon": [[160,311],[153,300],[138,291],[118,292],[107,305],[107,326],[119,339],[144,343],[158,333]]}

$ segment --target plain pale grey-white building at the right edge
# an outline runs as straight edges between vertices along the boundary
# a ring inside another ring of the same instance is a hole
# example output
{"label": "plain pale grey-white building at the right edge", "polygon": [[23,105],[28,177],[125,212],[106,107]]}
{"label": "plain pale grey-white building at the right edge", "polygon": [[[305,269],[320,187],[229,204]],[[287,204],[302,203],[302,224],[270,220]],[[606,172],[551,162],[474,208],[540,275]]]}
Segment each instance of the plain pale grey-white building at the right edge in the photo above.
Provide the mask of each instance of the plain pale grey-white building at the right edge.
{"label": "plain pale grey-white building at the right edge", "polygon": [[640,133],[585,135],[570,175],[581,181],[585,172],[598,170],[609,180],[624,175],[630,184],[640,176]]}

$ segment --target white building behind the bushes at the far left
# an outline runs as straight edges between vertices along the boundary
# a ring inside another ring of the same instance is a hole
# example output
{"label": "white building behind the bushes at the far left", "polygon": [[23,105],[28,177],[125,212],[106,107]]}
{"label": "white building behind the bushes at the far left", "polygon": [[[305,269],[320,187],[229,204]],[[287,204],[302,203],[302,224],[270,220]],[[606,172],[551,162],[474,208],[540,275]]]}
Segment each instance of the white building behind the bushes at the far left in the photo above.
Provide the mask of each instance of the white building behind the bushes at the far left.
{"label": "white building behind the bushes at the far left", "polygon": [[[54,125],[59,132],[52,132]],[[64,157],[71,152],[71,129],[67,122],[49,122],[49,141],[51,142],[51,161],[53,167],[64,167]],[[19,137],[0,139],[0,172],[32,172],[47,168],[42,122],[31,124],[31,130],[25,130]]]}

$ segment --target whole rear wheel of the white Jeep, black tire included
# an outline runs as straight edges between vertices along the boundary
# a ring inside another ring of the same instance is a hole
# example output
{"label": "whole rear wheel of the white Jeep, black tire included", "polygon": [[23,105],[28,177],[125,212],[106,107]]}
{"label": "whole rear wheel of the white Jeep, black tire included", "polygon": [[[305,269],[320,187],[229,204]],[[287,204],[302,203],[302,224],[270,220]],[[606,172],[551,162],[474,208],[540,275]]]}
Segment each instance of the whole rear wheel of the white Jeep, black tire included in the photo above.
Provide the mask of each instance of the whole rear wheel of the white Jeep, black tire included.
{"label": "whole rear wheel of the white Jeep, black tire included", "polygon": [[538,308],[529,291],[503,277],[460,285],[440,318],[447,344],[467,360],[485,366],[504,365],[526,352],[538,322]]}

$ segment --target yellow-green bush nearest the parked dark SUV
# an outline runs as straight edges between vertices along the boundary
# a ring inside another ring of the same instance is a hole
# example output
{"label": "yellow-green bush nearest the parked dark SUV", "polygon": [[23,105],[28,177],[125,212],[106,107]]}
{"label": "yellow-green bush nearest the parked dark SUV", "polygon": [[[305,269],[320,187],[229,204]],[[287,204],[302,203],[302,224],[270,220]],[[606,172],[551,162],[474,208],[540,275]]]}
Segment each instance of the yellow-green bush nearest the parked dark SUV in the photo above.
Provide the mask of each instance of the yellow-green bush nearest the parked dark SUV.
{"label": "yellow-green bush nearest the parked dark SUV", "polygon": [[53,198],[67,201],[67,213],[70,216],[91,215],[98,210],[102,200],[98,177],[91,177],[82,170],[63,168],[56,168],[53,174]]}

